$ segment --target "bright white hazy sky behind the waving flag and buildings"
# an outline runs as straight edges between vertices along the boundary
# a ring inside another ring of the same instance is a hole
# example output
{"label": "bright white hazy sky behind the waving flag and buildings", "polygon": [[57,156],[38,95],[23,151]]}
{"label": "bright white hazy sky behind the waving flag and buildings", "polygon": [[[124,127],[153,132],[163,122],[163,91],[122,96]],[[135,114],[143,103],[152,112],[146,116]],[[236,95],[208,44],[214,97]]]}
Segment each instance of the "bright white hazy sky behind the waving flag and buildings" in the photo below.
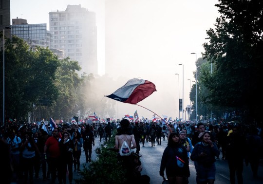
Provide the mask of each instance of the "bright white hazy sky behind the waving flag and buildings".
{"label": "bright white hazy sky behind the waving flag and buildings", "polygon": [[[157,92],[139,103],[158,115],[178,117],[178,73],[182,98],[182,66],[184,64],[184,109],[190,104],[190,79],[194,84],[195,55],[201,57],[206,30],[213,28],[219,17],[214,6],[217,0],[107,0],[112,1],[109,30],[112,60],[128,79],[140,77],[153,82]],[[97,58],[99,74],[105,74],[105,4],[104,0],[10,0],[11,19],[24,18],[29,24],[47,23],[49,12],[65,11],[67,5],[81,7],[96,13]],[[114,14],[114,12],[116,12]],[[11,20],[10,20],[11,22]],[[109,23],[109,22],[108,22]],[[107,35],[107,33],[106,33]],[[130,67],[129,67],[130,66]],[[127,70],[126,70],[127,69]],[[117,86],[121,87],[122,84]],[[115,86],[115,85],[114,85]],[[116,90],[116,89],[115,89]],[[111,94],[107,92],[105,95]],[[118,104],[118,117],[137,110],[141,117],[150,118],[152,112],[130,104]],[[130,109],[131,108],[131,109]],[[127,110],[130,109],[130,110]],[[180,115],[182,117],[182,113]],[[185,119],[185,114],[184,114]],[[188,119],[188,116],[187,116]]]}

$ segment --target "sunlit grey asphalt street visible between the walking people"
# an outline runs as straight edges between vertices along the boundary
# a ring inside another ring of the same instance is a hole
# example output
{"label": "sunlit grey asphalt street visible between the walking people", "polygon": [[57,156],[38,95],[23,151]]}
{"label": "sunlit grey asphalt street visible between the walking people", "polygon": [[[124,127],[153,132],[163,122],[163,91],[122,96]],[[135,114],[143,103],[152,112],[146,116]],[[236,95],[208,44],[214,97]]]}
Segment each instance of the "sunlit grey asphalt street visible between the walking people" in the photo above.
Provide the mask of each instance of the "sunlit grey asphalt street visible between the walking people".
{"label": "sunlit grey asphalt street visible between the walking people", "polygon": [[[104,141],[104,140],[103,140]],[[141,172],[142,175],[146,174],[150,177],[150,184],[162,184],[163,178],[159,175],[160,170],[160,163],[163,151],[165,147],[167,147],[167,138],[165,141],[162,140],[161,145],[157,145],[157,142],[155,144],[155,147],[151,147],[150,142],[145,142],[145,147],[142,147],[142,143],[140,143],[140,155],[141,155],[141,163],[143,170]],[[95,148],[98,147],[100,144],[99,138],[95,139],[95,146],[93,147],[93,153],[92,153],[92,160],[96,159],[95,154]],[[220,155],[220,158],[222,156]],[[86,163],[85,158],[85,152],[81,152],[80,157],[80,169],[83,168],[83,165],[89,166],[89,163]],[[195,184],[196,183],[196,171],[194,167],[194,163],[190,160],[189,162],[189,168],[190,168],[190,177],[188,178],[189,184]],[[226,160],[217,160],[216,161],[216,181],[214,184],[230,184],[229,180],[229,169],[227,165]],[[244,184],[262,184],[263,183],[263,162],[261,162],[258,172],[259,178],[255,179],[253,178],[253,174],[251,171],[250,166],[244,166],[243,171],[243,178],[244,178]],[[73,178],[77,179],[79,178],[78,173],[73,173]],[[34,178],[34,184],[50,184],[51,180],[42,180],[42,172],[40,168],[39,172],[39,178]],[[73,179],[73,180],[74,180]],[[12,182],[12,184],[22,184],[22,181],[16,182],[15,180]],[[56,180],[56,184],[58,184],[58,181]],[[69,181],[67,180],[67,184],[69,184]],[[73,181],[73,184],[75,184],[75,181]],[[237,181],[236,181],[237,184]]]}

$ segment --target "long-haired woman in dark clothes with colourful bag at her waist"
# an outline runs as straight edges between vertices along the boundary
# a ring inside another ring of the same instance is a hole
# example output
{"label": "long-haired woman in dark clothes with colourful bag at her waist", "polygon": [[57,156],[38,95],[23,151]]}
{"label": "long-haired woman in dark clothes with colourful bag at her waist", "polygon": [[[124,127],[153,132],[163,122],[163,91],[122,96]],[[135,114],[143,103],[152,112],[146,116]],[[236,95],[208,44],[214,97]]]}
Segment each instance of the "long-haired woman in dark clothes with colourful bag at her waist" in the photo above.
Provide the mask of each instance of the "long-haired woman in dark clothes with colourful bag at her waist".
{"label": "long-haired woman in dark clothes with colourful bag at her waist", "polygon": [[176,132],[170,133],[168,146],[162,156],[160,166],[162,177],[164,177],[164,170],[166,170],[169,184],[183,184],[184,178],[190,176],[187,150],[180,143]]}

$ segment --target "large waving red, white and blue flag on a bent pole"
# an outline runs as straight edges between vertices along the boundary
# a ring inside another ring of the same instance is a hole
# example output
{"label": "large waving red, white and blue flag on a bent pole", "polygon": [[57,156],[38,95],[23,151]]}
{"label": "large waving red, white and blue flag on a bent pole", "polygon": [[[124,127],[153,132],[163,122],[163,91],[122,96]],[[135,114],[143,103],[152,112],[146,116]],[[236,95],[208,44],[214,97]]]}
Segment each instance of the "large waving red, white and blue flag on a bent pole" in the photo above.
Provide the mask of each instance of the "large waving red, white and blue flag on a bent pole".
{"label": "large waving red, white and blue flag on a bent pole", "polygon": [[156,89],[152,82],[133,78],[107,97],[128,104],[137,104],[153,92],[156,92]]}

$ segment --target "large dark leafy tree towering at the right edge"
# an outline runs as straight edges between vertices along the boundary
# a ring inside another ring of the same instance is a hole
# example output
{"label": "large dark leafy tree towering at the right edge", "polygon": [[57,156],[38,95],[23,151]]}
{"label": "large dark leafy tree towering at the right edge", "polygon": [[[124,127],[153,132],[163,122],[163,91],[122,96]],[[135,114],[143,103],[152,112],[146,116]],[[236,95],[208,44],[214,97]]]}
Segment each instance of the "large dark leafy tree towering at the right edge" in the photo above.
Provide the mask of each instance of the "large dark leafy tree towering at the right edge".
{"label": "large dark leafy tree towering at the right edge", "polygon": [[[209,29],[204,58],[215,63],[213,74],[204,73],[204,100],[211,105],[249,110],[260,108],[263,66],[263,1],[219,0],[221,16]],[[262,101],[262,100],[261,100]],[[252,114],[254,113],[254,114]]]}

